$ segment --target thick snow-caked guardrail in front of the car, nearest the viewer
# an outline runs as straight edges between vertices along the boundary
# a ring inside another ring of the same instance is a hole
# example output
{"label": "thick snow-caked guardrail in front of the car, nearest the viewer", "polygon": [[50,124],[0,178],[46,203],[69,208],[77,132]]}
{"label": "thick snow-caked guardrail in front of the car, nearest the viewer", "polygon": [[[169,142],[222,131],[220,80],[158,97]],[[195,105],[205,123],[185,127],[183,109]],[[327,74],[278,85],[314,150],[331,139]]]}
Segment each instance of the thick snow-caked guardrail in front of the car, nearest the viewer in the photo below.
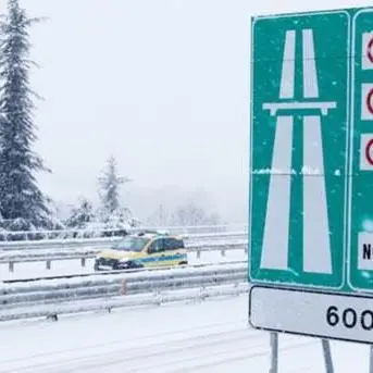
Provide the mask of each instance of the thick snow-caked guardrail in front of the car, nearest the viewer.
{"label": "thick snow-caked guardrail in front of the car, nearest the viewer", "polygon": [[[215,296],[248,290],[247,265],[235,264],[204,269],[178,269],[157,273],[90,276],[33,284],[3,284],[0,287],[0,321],[52,316],[58,314],[111,310],[116,307],[159,304],[162,294],[171,291],[174,300],[187,300],[176,290],[194,288],[198,297],[209,296],[207,287],[229,286],[228,291],[213,290]],[[232,288],[233,287],[233,288]],[[197,289],[197,291],[196,291]]]}

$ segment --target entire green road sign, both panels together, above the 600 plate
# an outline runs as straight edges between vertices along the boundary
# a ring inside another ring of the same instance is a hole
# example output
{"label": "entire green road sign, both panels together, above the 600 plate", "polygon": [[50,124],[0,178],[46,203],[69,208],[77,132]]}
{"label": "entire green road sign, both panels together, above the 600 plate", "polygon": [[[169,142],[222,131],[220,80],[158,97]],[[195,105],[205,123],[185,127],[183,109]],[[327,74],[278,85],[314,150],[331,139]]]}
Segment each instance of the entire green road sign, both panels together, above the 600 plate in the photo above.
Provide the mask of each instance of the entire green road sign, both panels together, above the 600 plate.
{"label": "entire green road sign, both panels together, above the 600 plate", "polygon": [[373,9],[252,20],[249,281],[373,290]]}

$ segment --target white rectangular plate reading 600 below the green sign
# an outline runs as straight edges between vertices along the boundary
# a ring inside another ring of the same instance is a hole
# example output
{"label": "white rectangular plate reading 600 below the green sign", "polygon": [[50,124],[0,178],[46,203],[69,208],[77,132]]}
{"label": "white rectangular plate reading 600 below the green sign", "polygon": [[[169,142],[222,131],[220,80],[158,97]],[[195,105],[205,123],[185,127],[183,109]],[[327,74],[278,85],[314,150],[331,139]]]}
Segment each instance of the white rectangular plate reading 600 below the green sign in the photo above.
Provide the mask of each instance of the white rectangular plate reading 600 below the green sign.
{"label": "white rectangular plate reading 600 below the green sign", "polygon": [[373,344],[373,298],[253,286],[254,328]]}

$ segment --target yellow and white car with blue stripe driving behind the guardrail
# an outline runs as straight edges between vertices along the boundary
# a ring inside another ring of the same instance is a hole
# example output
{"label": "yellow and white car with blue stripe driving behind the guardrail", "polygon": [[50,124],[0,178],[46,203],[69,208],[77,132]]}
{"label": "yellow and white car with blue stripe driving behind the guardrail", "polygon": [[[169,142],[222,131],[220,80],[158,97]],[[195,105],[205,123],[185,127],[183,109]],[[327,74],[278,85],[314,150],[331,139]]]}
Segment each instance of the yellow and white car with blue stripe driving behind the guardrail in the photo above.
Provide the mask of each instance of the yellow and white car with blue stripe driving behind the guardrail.
{"label": "yellow and white car with blue stripe driving behind the guardrail", "polygon": [[140,232],[127,235],[111,249],[101,251],[96,257],[95,271],[174,266],[187,263],[187,250],[182,237],[157,232]]}

